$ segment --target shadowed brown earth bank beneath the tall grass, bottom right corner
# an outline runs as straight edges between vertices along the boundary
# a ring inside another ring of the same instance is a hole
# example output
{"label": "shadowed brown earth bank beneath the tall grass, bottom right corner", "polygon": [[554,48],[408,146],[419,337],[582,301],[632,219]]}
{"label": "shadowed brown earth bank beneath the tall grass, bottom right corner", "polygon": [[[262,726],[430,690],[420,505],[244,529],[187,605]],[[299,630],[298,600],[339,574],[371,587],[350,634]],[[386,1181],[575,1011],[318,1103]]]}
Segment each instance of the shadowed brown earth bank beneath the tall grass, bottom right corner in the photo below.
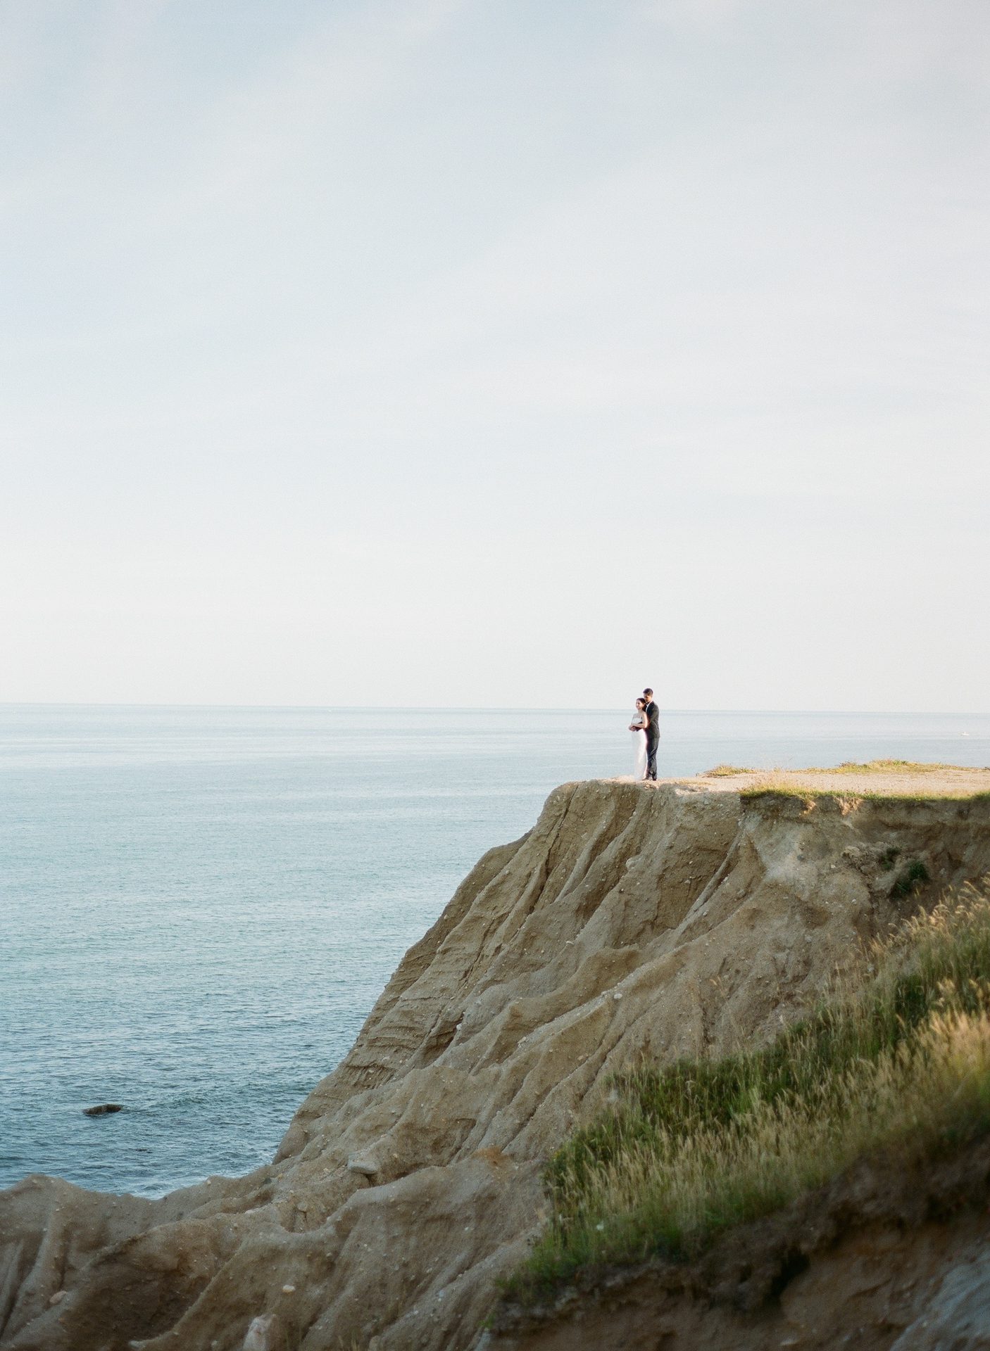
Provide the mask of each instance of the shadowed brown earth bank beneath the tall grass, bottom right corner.
{"label": "shadowed brown earth bank beneath the tall grass, bottom right corner", "polygon": [[862,1159],[694,1262],[598,1270],[499,1306],[484,1351],[983,1351],[990,1142],[905,1169]]}

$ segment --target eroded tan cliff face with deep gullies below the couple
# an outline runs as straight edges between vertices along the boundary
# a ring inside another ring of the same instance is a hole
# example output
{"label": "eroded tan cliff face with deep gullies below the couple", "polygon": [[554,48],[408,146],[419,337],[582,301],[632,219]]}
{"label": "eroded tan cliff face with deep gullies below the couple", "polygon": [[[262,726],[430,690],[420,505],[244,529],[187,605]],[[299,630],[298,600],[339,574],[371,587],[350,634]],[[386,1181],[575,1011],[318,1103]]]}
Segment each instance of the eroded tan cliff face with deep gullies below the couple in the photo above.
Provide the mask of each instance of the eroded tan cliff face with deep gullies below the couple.
{"label": "eroded tan cliff face with deep gullies below the couple", "polygon": [[[891,850],[925,894],[893,898]],[[270,1167],[161,1201],[0,1194],[0,1344],[239,1351],[275,1315],[280,1348],[471,1347],[610,1074],[770,1038],[862,940],[989,871],[986,800],[565,785],[407,952]]]}

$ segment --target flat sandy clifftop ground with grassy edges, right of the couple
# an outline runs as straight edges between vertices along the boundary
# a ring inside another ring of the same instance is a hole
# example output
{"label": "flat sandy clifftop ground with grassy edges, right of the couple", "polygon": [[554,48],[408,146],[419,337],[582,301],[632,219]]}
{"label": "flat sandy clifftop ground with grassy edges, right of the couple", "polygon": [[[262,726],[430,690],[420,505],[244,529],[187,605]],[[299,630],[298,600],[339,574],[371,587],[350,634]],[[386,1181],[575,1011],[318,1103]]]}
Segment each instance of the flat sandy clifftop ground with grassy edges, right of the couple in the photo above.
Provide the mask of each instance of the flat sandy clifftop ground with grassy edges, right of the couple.
{"label": "flat sandy clifftop ground with grassy edges, right of the couple", "polygon": [[697,774],[694,778],[663,778],[660,784],[703,793],[740,793],[765,788],[809,789],[843,797],[972,797],[990,793],[990,767],[960,765],[906,765],[875,761],[849,769],[741,770],[740,773]]}

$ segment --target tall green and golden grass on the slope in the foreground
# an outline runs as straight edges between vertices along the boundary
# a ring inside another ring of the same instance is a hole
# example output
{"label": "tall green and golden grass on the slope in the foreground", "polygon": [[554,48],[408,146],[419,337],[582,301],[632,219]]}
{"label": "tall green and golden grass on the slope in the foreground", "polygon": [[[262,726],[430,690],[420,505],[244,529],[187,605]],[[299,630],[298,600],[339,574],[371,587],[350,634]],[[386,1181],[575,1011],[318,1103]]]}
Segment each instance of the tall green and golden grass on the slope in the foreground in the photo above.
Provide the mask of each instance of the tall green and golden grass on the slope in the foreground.
{"label": "tall green and golden grass on the slope in the foreground", "polygon": [[642,1065],[545,1173],[550,1220],[506,1293],[534,1302],[579,1271],[690,1258],[856,1159],[905,1167],[990,1131],[990,897],[968,890],[876,948],[767,1047]]}

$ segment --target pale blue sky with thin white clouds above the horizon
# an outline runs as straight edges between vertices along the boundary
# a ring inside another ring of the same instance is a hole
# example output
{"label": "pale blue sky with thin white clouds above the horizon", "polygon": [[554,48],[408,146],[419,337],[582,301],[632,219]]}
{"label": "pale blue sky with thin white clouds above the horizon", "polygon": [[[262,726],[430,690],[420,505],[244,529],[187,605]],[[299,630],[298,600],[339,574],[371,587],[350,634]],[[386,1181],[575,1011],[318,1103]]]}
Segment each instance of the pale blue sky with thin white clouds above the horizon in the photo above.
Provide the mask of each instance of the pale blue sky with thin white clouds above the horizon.
{"label": "pale blue sky with thin white clouds above the horizon", "polygon": [[0,0],[0,700],[990,708],[985,0]]}

